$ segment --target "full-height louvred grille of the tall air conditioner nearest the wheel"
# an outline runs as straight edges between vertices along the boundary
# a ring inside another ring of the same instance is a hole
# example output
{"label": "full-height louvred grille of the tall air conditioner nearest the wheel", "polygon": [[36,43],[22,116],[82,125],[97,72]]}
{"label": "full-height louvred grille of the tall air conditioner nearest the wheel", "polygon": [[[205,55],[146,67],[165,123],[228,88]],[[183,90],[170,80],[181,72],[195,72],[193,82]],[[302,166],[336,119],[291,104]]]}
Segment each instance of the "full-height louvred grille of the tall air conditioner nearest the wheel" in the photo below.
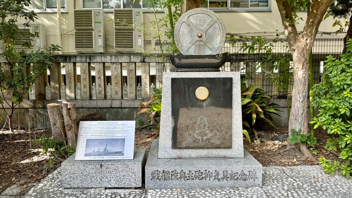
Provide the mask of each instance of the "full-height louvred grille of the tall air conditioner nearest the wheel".
{"label": "full-height louvred grille of the tall air conditioner nearest the wheel", "polygon": [[114,10],[115,48],[133,48],[133,10]]}

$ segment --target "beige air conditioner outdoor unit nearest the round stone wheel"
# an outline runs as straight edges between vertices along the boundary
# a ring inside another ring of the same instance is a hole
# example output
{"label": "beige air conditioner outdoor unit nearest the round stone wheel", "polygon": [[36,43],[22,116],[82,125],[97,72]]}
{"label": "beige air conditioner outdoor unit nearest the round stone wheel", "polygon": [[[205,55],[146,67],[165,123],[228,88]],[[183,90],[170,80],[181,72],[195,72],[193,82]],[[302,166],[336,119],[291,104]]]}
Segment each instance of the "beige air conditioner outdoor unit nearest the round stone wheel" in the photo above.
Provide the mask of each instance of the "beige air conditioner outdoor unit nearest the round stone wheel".
{"label": "beige air conditioner outdoor unit nearest the round stone wheel", "polygon": [[[114,9],[115,51],[142,51],[144,47],[142,27],[142,9]],[[132,26],[134,21],[134,27]]]}

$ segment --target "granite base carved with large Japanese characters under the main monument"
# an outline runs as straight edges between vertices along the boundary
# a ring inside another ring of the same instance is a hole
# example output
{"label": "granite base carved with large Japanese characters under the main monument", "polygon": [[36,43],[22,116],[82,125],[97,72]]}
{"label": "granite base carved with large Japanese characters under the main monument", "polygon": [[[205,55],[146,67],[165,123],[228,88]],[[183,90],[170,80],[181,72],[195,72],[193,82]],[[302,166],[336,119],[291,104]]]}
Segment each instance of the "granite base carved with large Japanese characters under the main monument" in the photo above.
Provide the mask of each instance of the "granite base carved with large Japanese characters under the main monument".
{"label": "granite base carved with large Japanese characters under the main monument", "polygon": [[158,159],[153,141],[145,165],[146,189],[262,187],[262,165],[247,151],[244,158]]}

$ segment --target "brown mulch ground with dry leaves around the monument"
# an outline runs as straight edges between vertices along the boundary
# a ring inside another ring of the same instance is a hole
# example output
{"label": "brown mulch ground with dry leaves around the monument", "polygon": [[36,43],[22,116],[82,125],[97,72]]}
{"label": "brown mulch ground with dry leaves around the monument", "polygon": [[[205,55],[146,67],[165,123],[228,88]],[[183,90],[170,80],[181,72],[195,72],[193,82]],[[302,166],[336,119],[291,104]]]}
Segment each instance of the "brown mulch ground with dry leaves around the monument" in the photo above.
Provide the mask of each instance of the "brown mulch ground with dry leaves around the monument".
{"label": "brown mulch ground with dry leaves around the monument", "polygon": [[[252,140],[250,144],[245,138],[243,140],[245,149],[253,155],[263,166],[299,166],[316,165],[317,161],[301,160],[302,156],[292,151],[281,154],[280,151],[287,146],[288,129],[266,129],[258,132],[258,139]],[[39,138],[42,134],[48,135],[48,130],[34,129],[29,133],[28,130],[15,130],[12,134],[8,130],[0,130],[0,193],[12,184],[19,184],[22,187],[29,186],[33,182],[38,182],[48,174],[58,168],[61,160],[49,159],[48,155],[39,155],[39,147],[34,147],[31,140],[34,134]],[[327,133],[321,129],[316,129],[318,144],[318,160],[324,156],[329,160],[340,159],[337,153],[331,153],[324,148]],[[135,148],[145,148],[149,152],[151,143],[155,136],[155,130],[136,129]],[[11,136],[11,139],[10,139]],[[270,155],[275,151],[274,155]],[[32,160],[33,159],[33,160]]]}

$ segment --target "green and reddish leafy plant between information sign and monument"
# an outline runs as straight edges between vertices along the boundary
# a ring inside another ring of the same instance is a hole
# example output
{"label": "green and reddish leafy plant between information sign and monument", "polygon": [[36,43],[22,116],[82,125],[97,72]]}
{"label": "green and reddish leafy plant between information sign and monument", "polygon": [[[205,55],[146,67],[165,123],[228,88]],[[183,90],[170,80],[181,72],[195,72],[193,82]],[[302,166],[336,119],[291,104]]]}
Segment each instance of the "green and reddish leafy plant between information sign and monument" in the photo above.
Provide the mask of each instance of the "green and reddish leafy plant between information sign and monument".
{"label": "green and reddish leafy plant between information sign and monument", "polygon": [[[157,87],[154,88],[153,91],[153,97],[151,98],[151,100],[149,100],[146,103],[141,103],[139,105],[139,111],[137,112],[137,114],[139,113],[146,113],[144,118],[149,117],[146,122],[149,122],[150,124],[148,125],[144,125],[142,126],[140,129],[149,127],[149,126],[157,126],[157,128],[160,128],[160,123],[156,120],[156,118],[160,117],[160,113],[161,113],[161,98],[162,98],[162,88],[161,87]],[[144,108],[142,108],[144,107]],[[142,109],[141,109],[142,108]],[[153,121],[156,124],[153,124]]]}

